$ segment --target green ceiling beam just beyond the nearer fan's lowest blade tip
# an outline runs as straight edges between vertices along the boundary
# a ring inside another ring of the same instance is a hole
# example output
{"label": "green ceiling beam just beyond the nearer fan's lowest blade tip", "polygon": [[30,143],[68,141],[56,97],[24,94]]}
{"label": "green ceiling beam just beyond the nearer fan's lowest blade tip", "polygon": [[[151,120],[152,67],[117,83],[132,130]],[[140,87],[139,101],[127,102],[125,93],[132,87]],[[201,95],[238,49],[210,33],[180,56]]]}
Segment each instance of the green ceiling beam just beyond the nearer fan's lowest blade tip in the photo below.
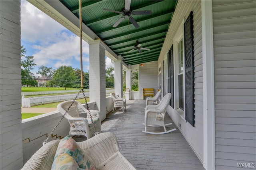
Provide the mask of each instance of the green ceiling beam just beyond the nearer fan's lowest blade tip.
{"label": "green ceiling beam just beyond the nearer fan's lowest blade tip", "polygon": [[111,37],[106,37],[103,39],[104,42],[108,42],[108,41],[112,41],[114,39],[119,39],[119,38],[122,38],[122,37],[126,37],[127,35],[132,35],[132,34],[137,34],[137,33],[140,33],[140,32],[144,32],[144,31],[149,31],[150,29],[155,29],[157,27],[162,27],[164,25],[168,25],[170,24],[170,21],[165,21],[165,22],[162,22],[162,23],[158,23],[156,25],[150,25],[149,27],[145,27],[143,29],[136,29],[134,31],[130,31],[130,32],[127,32],[127,33],[124,33],[124,34],[120,34],[120,35],[116,35],[116,36],[111,36]]}

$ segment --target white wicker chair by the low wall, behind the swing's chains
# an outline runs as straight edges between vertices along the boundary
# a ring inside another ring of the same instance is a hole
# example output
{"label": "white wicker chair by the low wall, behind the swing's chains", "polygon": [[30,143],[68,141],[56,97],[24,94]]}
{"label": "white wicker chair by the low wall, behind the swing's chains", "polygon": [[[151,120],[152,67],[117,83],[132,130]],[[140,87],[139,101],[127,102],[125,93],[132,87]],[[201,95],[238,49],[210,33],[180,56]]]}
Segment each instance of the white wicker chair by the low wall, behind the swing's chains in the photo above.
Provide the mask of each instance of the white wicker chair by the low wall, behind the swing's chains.
{"label": "white wicker chair by the low wall, behind the swing's chains", "polygon": [[[69,135],[84,135],[87,139],[90,139],[95,131],[100,133],[100,112],[97,110],[90,110],[90,115],[92,116],[92,118],[90,118],[88,114],[89,111],[82,104],[80,104],[80,102],[74,101],[73,104],[72,102],[72,100],[68,100],[58,104],[57,106],[58,111],[60,111],[62,115],[64,115],[68,107],[71,106],[65,115],[65,118],[68,119],[70,124]],[[87,117],[79,117],[80,113],[86,113]]]}

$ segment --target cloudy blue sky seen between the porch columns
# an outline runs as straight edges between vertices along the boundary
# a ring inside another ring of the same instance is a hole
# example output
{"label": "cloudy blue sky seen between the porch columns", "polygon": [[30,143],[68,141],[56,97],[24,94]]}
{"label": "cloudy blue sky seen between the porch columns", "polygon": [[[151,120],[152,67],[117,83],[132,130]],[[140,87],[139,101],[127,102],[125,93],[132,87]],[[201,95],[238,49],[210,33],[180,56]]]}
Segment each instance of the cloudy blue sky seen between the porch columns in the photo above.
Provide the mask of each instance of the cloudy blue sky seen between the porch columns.
{"label": "cloudy blue sky seen between the porch columns", "polygon": [[[37,66],[31,70],[36,76],[39,66],[57,69],[72,66],[80,69],[80,37],[50,18],[35,6],[21,1],[21,45],[26,56],[34,56]],[[89,70],[89,45],[82,41],[83,71]],[[106,68],[114,66],[106,57]]]}

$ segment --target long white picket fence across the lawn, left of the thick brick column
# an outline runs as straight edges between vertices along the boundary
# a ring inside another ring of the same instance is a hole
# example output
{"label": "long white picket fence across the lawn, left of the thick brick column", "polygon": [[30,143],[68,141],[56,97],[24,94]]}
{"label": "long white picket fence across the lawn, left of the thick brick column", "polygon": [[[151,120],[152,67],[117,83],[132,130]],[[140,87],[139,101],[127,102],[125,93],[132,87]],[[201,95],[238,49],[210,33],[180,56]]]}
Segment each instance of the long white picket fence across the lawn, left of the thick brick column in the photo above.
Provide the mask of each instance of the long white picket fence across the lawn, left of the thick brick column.
{"label": "long white picket fence across the lawn, left of the thick brick column", "polygon": [[[74,100],[77,94],[63,94],[63,95],[54,95],[54,96],[37,96],[25,98],[22,95],[22,107],[31,107],[35,105],[48,104],[54,102],[62,102],[66,100]],[[86,93],[86,97],[89,97],[89,93]],[[77,99],[84,98],[82,93],[79,94]]]}

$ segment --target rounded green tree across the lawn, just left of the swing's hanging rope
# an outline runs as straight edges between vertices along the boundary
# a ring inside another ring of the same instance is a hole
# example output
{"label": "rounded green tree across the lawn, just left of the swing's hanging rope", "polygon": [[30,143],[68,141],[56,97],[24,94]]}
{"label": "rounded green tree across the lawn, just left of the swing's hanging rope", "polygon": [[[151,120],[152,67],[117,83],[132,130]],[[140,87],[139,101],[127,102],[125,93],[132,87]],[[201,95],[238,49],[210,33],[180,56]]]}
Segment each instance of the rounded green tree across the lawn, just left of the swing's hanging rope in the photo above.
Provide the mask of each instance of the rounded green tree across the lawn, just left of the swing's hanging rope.
{"label": "rounded green tree across the lawn, just left of the swing's hanging rope", "polygon": [[71,66],[60,66],[52,77],[52,83],[60,87],[72,87],[76,82],[76,74]]}

